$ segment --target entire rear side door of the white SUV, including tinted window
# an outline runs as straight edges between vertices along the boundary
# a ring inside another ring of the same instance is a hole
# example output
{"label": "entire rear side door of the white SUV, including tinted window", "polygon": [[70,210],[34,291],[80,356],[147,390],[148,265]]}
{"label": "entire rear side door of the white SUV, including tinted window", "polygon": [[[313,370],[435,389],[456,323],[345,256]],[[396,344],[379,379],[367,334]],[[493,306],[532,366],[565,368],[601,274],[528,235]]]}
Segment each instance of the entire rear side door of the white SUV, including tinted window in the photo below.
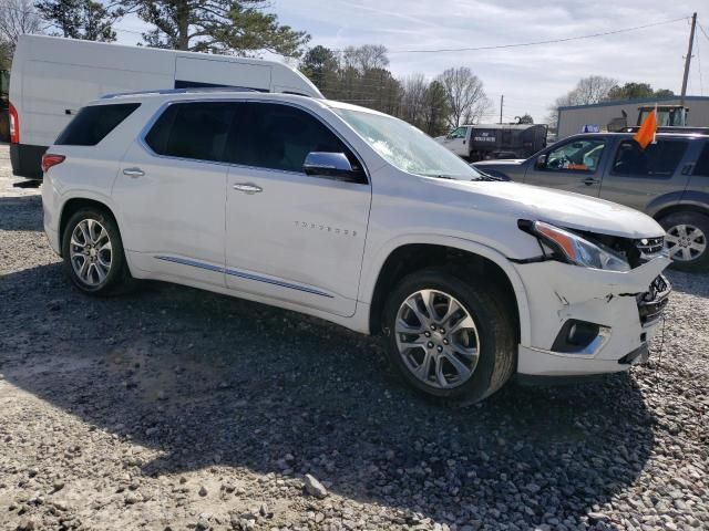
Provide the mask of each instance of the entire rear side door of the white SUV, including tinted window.
{"label": "entire rear side door of the white SUV, including tinted window", "polygon": [[234,107],[169,105],[133,143],[113,188],[132,263],[225,285],[225,187],[220,160]]}

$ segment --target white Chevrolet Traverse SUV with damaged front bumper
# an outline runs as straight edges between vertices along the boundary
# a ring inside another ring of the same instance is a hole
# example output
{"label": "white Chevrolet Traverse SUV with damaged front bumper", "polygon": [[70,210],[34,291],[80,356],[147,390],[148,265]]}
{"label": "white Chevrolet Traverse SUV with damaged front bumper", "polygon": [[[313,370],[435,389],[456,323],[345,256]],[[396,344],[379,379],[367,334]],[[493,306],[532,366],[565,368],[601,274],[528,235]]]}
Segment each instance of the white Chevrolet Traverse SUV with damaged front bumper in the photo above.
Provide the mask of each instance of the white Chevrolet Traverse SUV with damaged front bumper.
{"label": "white Chevrolet Traverse SUV with damaged front bumper", "polygon": [[646,360],[670,290],[648,216],[495,180],[343,103],[112,96],[43,170],[44,228],[81,290],[157,279],[382,332],[409,383],[463,403],[515,373]]}

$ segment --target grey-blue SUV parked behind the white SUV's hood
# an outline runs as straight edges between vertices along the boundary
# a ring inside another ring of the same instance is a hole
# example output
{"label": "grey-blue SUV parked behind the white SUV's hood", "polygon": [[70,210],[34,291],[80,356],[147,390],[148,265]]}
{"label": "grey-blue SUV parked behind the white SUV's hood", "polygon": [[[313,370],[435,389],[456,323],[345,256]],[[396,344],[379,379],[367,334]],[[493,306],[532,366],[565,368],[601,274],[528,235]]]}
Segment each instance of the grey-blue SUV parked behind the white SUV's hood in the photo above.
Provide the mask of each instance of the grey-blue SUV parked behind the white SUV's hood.
{"label": "grey-blue SUV parked behind the white SUV's hood", "polygon": [[576,135],[525,160],[481,162],[475,167],[641,210],[667,231],[678,269],[709,267],[709,136],[658,134],[655,144],[641,149],[631,134]]}

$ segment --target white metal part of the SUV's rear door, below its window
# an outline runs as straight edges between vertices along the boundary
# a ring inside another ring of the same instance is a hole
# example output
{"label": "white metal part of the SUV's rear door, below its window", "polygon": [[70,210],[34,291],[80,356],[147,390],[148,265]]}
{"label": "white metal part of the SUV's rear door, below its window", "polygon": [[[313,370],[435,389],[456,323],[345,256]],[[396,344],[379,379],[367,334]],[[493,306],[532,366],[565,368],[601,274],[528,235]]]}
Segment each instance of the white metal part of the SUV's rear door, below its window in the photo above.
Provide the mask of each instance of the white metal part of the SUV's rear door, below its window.
{"label": "white metal part of the SUV's rear door, below its window", "polygon": [[[124,175],[136,168],[144,175]],[[133,144],[113,197],[140,269],[224,285],[224,273],[212,267],[224,267],[226,176],[224,165],[155,157]]]}

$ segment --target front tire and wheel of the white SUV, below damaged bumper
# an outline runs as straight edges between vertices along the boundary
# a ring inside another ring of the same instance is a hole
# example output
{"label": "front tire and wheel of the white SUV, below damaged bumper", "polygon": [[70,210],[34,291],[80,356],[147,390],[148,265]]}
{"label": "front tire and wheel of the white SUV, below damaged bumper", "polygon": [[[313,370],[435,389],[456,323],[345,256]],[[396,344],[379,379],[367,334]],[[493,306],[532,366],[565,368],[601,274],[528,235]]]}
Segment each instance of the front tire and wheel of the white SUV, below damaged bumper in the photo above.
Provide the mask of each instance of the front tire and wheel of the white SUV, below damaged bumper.
{"label": "front tire and wheel of the white SUV, below damaged bumper", "polygon": [[516,332],[503,293],[463,271],[410,274],[384,309],[388,355],[418,391],[462,405],[490,396],[512,376]]}

